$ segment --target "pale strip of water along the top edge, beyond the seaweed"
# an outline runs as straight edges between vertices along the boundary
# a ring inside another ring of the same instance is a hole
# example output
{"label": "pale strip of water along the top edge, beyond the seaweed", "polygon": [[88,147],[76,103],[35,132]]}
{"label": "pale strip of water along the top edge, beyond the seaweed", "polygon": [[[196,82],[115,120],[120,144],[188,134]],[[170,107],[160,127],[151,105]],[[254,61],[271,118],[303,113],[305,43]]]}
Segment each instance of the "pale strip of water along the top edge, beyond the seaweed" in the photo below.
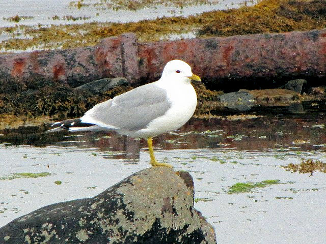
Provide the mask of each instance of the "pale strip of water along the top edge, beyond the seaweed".
{"label": "pale strip of water along the top edge, beyond the seaweed", "polygon": [[[83,4],[89,6],[78,9],[69,6],[72,0],[8,0],[0,1],[0,27],[14,26],[15,24],[37,25],[37,24],[65,24],[65,23],[84,23],[84,22],[130,22],[143,19],[155,19],[157,17],[170,16],[189,16],[212,10],[222,10],[228,8],[237,8],[248,2],[248,6],[254,2],[243,0],[223,0],[217,4],[188,6],[177,8],[175,6],[153,5],[151,8],[139,9],[136,11],[119,10],[116,11],[105,6],[94,6],[94,0],[86,0]],[[77,2],[77,1],[75,1]],[[216,1],[214,1],[216,2]],[[13,16],[33,16],[33,18],[23,19],[17,22],[10,22],[4,18]],[[60,19],[53,19],[58,16]],[[89,19],[64,20],[64,16],[90,17]]]}

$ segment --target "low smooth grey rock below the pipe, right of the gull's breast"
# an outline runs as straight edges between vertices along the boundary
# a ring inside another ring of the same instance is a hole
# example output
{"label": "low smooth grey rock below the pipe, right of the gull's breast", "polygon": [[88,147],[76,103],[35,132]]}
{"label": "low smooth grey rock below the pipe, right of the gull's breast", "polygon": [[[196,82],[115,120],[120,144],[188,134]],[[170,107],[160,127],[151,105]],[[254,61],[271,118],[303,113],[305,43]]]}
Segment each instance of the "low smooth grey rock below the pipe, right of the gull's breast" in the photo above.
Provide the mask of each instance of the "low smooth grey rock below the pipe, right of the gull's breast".
{"label": "low smooth grey rock below the pipe, right of the gull's breast", "polygon": [[254,96],[245,90],[226,93],[219,98],[222,106],[239,111],[250,110],[255,104]]}

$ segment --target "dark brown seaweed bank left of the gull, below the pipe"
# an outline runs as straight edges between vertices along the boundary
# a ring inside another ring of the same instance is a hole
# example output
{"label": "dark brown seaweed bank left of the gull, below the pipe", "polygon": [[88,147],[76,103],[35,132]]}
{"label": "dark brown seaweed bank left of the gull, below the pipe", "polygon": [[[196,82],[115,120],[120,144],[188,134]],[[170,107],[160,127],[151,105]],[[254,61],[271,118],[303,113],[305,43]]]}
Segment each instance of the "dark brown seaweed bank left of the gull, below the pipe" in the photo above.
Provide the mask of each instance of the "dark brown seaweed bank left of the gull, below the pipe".
{"label": "dark brown seaweed bank left of the gull, below the pipe", "polygon": [[[83,115],[95,104],[111,99],[132,89],[116,86],[99,94],[74,89],[66,83],[35,77],[33,80],[0,79],[0,114],[2,118],[39,116],[53,119],[74,118]],[[7,116],[4,116],[7,115]],[[7,121],[7,125],[10,124]],[[4,125],[2,125],[4,126]]]}

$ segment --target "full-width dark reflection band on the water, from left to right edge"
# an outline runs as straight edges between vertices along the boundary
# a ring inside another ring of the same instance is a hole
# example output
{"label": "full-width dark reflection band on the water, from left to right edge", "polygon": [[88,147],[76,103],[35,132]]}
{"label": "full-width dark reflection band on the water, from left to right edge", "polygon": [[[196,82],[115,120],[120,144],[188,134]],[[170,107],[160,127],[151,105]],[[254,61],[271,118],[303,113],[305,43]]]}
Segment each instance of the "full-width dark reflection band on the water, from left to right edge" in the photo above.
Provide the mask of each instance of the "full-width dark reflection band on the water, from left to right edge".
{"label": "full-width dark reflection band on the water, from left to right edge", "polygon": [[[155,149],[235,148],[266,151],[324,150],[326,146],[324,115],[315,117],[258,117],[246,120],[191,119],[176,132],[154,138]],[[98,148],[105,157],[137,160],[140,150],[147,150],[143,139],[132,139],[115,132],[52,133],[46,128],[5,130],[0,142],[14,145],[62,145]]]}

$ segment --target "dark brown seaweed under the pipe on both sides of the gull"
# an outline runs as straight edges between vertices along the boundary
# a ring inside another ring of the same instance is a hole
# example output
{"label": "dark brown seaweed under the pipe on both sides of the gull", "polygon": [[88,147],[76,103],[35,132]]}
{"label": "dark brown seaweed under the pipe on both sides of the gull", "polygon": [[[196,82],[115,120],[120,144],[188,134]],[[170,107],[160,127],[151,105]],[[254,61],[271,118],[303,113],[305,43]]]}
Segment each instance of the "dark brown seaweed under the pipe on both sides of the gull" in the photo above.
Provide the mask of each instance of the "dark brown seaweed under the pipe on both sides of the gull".
{"label": "dark brown seaweed under the pipe on both sides of the gull", "polygon": [[[193,82],[198,95],[195,115],[207,115],[215,109],[222,92],[209,90],[202,82]],[[49,123],[82,116],[95,104],[111,99],[134,87],[118,85],[93,94],[74,89],[67,83],[35,77],[32,80],[0,79],[0,129]]]}

